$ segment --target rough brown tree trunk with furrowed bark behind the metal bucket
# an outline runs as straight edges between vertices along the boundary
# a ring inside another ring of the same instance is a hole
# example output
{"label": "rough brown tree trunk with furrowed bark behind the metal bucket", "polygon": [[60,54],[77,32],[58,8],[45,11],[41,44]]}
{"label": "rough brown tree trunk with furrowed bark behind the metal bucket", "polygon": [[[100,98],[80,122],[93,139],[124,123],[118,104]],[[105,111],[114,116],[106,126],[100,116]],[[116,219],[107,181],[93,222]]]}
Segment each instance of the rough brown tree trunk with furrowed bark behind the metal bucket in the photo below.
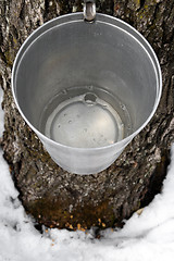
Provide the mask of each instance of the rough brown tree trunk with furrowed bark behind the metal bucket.
{"label": "rough brown tree trunk with furrowed bark behind the metal bucket", "polygon": [[174,140],[174,0],[96,1],[97,11],[136,27],[153,47],[162,69],[163,94],[151,122],[120,158],[95,175],[75,175],[58,166],[18,114],[11,92],[14,58],[27,36],[44,22],[80,11],[80,1],[0,1],[0,84],[4,91],[1,145],[21,200],[47,226],[117,226],[160,190]]}

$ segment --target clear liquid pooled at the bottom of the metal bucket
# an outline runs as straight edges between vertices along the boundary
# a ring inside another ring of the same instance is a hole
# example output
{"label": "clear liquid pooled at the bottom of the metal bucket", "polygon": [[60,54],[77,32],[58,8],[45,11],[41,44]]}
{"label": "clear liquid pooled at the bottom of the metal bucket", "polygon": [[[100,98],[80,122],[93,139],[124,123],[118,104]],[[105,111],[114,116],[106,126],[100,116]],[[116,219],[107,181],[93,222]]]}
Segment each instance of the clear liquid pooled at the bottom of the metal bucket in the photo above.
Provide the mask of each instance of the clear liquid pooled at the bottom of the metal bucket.
{"label": "clear liquid pooled at the bottom of the metal bucket", "polygon": [[127,129],[130,130],[129,115],[121,104],[123,119],[109,102],[110,96],[95,87],[63,90],[44,110],[44,134],[59,144],[76,148],[98,148],[122,140]]}

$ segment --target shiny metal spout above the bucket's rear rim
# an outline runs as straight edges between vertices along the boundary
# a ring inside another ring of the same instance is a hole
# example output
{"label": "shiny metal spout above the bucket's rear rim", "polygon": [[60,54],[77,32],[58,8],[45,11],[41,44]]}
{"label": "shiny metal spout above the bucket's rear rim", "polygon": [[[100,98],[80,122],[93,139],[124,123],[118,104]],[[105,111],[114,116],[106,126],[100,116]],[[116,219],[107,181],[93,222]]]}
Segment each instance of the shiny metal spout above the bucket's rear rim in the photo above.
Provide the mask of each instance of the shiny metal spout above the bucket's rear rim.
{"label": "shiny metal spout above the bucket's rear rim", "polygon": [[96,3],[94,0],[84,0],[84,20],[94,22],[96,17]]}

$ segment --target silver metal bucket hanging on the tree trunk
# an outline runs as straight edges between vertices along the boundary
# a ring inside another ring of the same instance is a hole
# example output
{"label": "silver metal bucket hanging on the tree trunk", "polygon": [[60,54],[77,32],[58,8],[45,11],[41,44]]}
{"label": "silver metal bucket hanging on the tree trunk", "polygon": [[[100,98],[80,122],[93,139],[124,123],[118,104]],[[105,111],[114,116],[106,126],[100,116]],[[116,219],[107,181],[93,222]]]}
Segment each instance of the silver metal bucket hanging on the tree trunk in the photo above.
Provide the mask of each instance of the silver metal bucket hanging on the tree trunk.
{"label": "silver metal bucket hanging on the tree trunk", "polygon": [[60,166],[76,174],[107,169],[147,125],[162,89],[147,40],[115,17],[54,18],[21,47],[12,72],[24,120]]}

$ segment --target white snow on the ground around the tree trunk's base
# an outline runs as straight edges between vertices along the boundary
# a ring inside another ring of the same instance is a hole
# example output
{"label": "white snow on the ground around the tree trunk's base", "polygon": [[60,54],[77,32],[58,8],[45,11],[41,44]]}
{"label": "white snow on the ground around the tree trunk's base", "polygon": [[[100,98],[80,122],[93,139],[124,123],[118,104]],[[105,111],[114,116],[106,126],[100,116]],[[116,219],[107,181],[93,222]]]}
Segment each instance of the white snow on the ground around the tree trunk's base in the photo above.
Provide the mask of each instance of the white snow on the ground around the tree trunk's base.
{"label": "white snow on the ground around the tree trunk's base", "polygon": [[[2,96],[2,95],[1,95]],[[3,113],[0,112],[0,136]],[[0,150],[0,261],[172,261],[174,259],[174,145],[163,189],[122,229],[101,238],[87,233],[47,229],[42,234],[25,213]]]}

